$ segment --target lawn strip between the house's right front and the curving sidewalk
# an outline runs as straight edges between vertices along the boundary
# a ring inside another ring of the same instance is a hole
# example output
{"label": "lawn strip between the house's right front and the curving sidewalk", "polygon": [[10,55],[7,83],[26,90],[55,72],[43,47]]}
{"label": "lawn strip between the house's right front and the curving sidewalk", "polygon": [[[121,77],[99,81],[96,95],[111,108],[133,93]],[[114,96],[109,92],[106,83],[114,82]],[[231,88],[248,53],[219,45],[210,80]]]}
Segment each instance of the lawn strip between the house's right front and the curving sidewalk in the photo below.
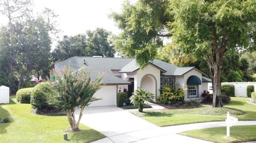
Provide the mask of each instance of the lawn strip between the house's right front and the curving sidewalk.
{"label": "lawn strip between the house's right front and the curving sidewalk", "polygon": [[212,108],[209,106],[178,109],[145,111],[144,113],[132,112],[160,127],[178,124],[189,124],[198,122],[225,121],[227,111],[238,120],[256,120],[256,106],[248,104],[249,98],[231,97],[231,103],[226,104],[225,108]]}

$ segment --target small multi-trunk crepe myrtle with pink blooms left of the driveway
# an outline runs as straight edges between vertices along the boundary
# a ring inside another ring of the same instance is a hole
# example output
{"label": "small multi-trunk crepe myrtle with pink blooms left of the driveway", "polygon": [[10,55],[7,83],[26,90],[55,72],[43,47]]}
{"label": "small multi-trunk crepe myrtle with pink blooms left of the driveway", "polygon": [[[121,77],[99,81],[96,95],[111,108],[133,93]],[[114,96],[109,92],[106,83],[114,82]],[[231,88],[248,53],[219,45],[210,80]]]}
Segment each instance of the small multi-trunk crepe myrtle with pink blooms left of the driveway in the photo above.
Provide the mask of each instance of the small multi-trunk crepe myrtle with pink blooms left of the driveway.
{"label": "small multi-trunk crepe myrtle with pink blooms left of the driveway", "polygon": [[[62,72],[62,77],[57,75],[56,80],[52,82],[52,89],[55,94],[51,96],[50,102],[55,107],[65,111],[73,131],[79,130],[79,122],[83,116],[84,107],[95,100],[99,100],[93,95],[102,87],[101,80],[104,74],[102,73],[92,81],[90,72],[86,72],[85,68],[79,71],[71,71],[70,68],[67,68]],[[78,120],[75,119],[76,107],[81,108]]]}

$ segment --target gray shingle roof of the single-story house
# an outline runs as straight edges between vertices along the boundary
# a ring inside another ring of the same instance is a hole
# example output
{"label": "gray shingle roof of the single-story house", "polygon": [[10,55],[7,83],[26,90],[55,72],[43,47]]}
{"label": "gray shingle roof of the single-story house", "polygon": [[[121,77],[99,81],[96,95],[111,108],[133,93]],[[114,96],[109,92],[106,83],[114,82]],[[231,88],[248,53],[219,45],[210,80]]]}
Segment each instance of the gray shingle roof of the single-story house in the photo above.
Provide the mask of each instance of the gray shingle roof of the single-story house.
{"label": "gray shingle roof of the single-story house", "polygon": [[[102,72],[107,72],[107,75],[103,77],[102,83],[106,84],[129,84],[130,82],[116,77],[111,70],[120,70],[119,72],[133,72],[139,69],[134,58],[114,58],[114,57],[85,57],[74,56],[65,61],[55,64],[55,70],[59,75],[65,66],[68,66],[70,62],[70,68],[73,70],[81,69],[82,66],[86,66],[91,69],[92,80],[98,77]],[[178,67],[170,63],[166,63],[160,60],[153,60],[150,62],[159,68],[162,72],[161,75],[174,75],[180,76],[195,67]],[[200,71],[199,71],[200,72]]]}

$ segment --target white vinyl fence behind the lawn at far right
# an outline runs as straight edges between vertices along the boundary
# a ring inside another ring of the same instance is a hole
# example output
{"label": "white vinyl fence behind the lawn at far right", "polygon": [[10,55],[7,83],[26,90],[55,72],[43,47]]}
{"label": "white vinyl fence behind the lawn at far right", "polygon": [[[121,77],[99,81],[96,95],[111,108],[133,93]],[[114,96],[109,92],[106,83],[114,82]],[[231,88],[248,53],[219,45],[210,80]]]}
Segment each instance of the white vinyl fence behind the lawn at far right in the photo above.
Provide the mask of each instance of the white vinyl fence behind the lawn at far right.
{"label": "white vinyl fence behind the lawn at far right", "polygon": [[[253,85],[254,90],[256,90],[256,82],[221,82],[221,85],[234,85],[235,86],[235,96],[247,97],[246,88],[248,85]],[[208,90],[212,87],[212,83],[208,83]]]}

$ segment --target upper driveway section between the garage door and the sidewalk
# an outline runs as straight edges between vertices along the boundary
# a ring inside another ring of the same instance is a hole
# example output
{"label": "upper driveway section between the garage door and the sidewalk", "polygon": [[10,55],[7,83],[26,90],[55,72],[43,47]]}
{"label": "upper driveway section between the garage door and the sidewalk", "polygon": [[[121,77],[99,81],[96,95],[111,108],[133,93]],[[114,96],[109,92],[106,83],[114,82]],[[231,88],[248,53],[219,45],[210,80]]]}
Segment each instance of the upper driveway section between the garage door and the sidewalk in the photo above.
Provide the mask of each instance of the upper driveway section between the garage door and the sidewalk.
{"label": "upper driveway section between the garage door and the sidewalk", "polygon": [[[79,115],[80,110],[76,110]],[[81,123],[93,128],[107,137],[127,132],[158,128],[140,117],[116,106],[85,107]]]}

